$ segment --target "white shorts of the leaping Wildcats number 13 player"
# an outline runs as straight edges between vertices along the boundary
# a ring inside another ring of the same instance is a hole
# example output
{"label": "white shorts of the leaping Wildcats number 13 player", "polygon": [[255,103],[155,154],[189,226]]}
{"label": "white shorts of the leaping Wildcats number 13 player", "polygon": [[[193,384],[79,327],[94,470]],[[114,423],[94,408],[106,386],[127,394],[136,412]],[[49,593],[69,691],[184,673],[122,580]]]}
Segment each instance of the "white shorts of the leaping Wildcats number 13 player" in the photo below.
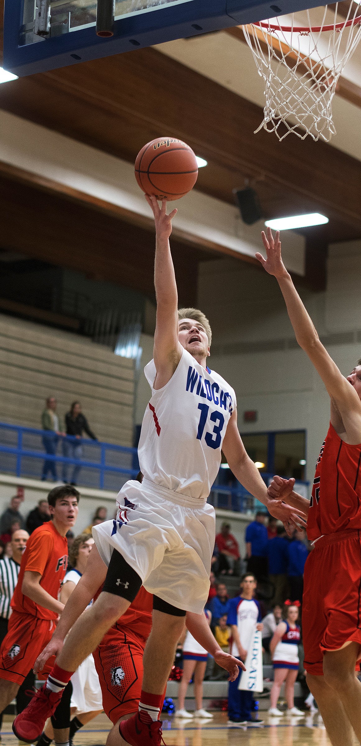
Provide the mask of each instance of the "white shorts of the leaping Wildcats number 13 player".
{"label": "white shorts of the leaping Wildcats number 13 player", "polygon": [[210,589],[214,508],[145,479],[127,482],[117,501],[116,521],[92,529],[101,559],[109,565],[116,549],[149,593],[201,614]]}

